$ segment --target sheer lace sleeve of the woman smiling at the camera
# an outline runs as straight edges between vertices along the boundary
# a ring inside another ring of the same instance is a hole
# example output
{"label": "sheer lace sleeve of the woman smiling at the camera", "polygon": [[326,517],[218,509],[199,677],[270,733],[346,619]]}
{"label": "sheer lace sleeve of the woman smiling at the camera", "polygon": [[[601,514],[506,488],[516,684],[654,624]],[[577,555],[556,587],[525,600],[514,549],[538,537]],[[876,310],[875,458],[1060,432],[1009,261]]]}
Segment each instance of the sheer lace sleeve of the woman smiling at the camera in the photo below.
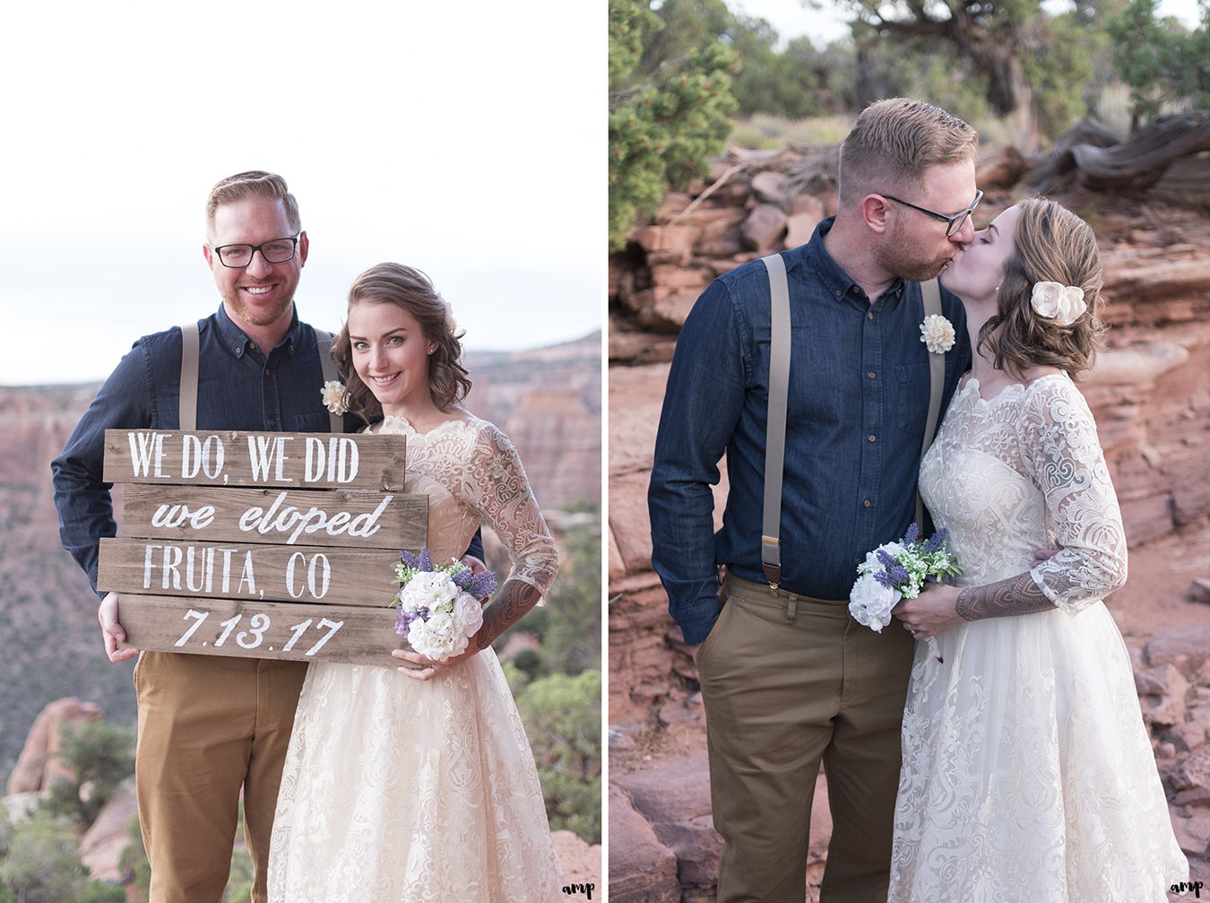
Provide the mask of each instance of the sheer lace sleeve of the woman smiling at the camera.
{"label": "sheer lace sleeve of the woman smiling at the camera", "polygon": [[463,491],[508,550],[508,580],[524,581],[546,596],[559,573],[559,550],[525,479],[517,449],[491,424],[476,436]]}

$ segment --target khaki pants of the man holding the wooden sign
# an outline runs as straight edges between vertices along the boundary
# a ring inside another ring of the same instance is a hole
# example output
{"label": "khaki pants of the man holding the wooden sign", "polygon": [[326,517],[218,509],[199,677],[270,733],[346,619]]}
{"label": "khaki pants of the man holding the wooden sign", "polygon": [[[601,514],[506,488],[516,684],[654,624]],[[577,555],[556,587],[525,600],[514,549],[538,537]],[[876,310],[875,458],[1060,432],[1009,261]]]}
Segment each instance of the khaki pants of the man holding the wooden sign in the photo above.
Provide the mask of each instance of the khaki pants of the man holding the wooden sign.
{"label": "khaki pants of the man holding the wooden sign", "polygon": [[269,836],[305,662],[142,652],[134,668],[139,822],[150,903],[219,903],[240,790],[265,903]]}

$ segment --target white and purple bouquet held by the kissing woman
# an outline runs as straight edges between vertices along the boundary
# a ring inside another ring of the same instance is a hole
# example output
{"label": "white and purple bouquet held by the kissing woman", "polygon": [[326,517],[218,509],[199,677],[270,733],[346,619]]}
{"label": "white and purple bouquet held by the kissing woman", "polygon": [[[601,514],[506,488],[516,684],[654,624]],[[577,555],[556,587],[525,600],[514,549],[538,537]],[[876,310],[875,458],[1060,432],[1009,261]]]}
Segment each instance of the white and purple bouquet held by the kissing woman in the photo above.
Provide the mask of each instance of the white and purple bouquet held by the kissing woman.
{"label": "white and purple bouquet held by the kissing woman", "polygon": [[857,573],[848,611],[858,623],[882,633],[891,623],[891,609],[901,599],[915,599],[928,580],[943,582],[961,574],[962,568],[945,547],[944,529],[926,541],[914,523],[903,541],[887,542],[866,554]]}

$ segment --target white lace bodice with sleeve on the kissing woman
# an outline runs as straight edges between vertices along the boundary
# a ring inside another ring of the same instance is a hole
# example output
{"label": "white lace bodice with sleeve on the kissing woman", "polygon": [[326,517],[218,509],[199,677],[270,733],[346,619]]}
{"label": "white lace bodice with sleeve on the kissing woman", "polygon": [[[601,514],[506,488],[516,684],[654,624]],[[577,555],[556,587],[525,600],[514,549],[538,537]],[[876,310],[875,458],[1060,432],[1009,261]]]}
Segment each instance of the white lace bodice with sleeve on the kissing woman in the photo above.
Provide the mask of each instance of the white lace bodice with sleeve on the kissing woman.
{"label": "white lace bodice with sleeve on the kissing woman", "polygon": [[[960,586],[1028,570],[1074,615],[1125,582],[1122,512],[1096,424],[1064,373],[991,399],[970,378],[924,455],[920,488],[937,527],[949,530]],[[1059,554],[1030,566],[1037,550],[1055,546]]]}

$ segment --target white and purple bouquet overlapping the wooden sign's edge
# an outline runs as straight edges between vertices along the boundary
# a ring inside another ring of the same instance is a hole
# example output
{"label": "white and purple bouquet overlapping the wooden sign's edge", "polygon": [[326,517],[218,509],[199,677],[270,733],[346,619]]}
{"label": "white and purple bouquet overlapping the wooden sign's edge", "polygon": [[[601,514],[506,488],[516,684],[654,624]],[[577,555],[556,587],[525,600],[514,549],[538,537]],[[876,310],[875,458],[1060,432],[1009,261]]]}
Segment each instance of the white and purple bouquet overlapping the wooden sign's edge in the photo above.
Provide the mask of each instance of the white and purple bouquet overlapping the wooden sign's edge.
{"label": "white and purple bouquet overlapping the wooden sign's edge", "polygon": [[403,552],[394,574],[403,585],[391,603],[399,608],[394,632],[426,658],[461,655],[483,626],[483,600],[496,591],[496,575],[474,574],[456,559],[434,566],[427,548]]}

